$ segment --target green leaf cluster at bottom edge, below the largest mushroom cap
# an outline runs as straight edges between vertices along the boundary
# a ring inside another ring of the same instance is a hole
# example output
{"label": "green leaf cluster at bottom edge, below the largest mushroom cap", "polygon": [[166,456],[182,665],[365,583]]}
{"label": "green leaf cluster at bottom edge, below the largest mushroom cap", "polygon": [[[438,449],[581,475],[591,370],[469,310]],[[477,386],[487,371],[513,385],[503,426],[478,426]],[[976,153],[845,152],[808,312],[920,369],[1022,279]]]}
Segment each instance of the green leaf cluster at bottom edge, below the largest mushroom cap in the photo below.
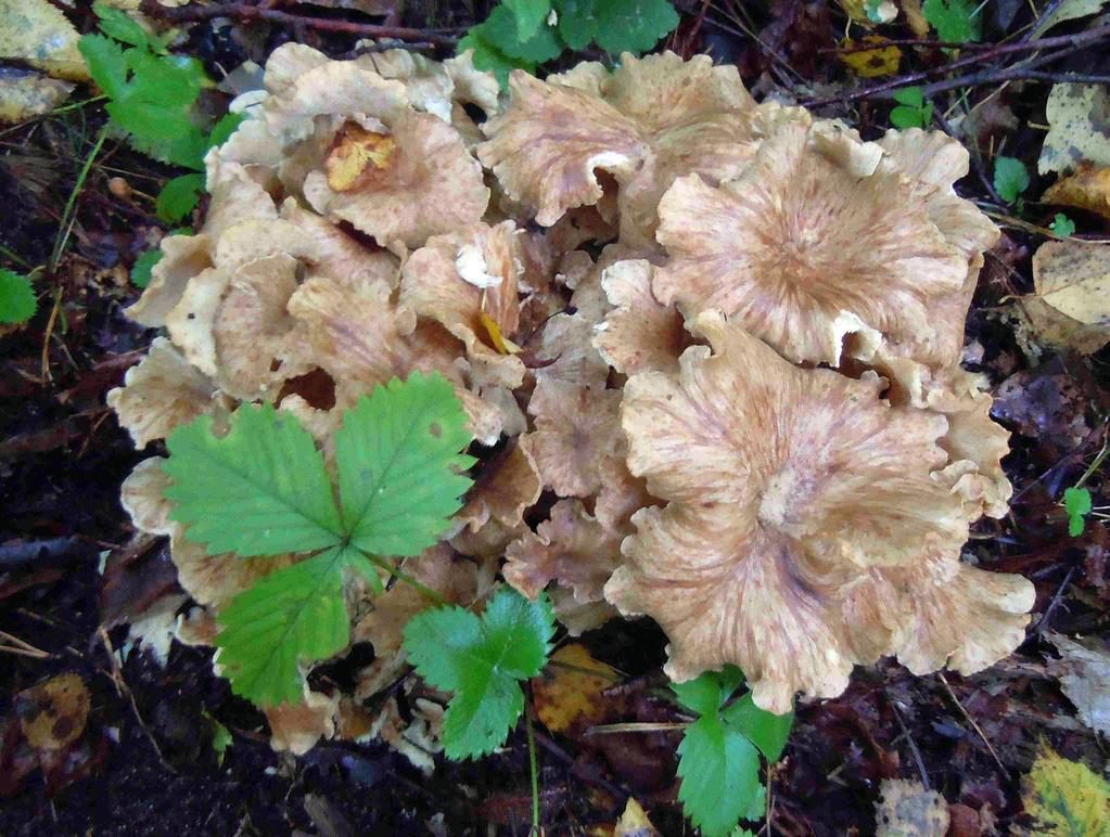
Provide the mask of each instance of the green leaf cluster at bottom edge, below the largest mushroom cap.
{"label": "green leaf cluster at bottom edge, below the largest mushroom cap", "polygon": [[678,745],[678,799],[705,837],[724,837],[740,819],[763,816],[759,754],[778,761],[794,723],[793,712],[760,710],[750,692],[729,703],[743,682],[740,670],[729,665],[672,686],[679,703],[699,716]]}

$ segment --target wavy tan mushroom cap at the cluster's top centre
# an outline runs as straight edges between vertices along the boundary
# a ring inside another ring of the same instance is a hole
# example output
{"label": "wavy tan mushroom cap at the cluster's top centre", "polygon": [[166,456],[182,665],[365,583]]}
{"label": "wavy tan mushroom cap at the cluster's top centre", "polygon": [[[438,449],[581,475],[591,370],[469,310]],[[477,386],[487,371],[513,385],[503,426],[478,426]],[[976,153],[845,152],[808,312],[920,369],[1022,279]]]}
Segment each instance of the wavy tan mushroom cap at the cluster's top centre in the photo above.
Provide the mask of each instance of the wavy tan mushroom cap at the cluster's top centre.
{"label": "wavy tan mushroom cap at the cluster's top centre", "polygon": [[677,175],[731,176],[755,151],[755,101],[736,68],[714,67],[707,55],[625,53],[612,74],[579,64],[546,82],[514,71],[509,90],[478,156],[544,226],[598,203],[601,170],[620,185],[627,243],[649,241],[659,196]]}

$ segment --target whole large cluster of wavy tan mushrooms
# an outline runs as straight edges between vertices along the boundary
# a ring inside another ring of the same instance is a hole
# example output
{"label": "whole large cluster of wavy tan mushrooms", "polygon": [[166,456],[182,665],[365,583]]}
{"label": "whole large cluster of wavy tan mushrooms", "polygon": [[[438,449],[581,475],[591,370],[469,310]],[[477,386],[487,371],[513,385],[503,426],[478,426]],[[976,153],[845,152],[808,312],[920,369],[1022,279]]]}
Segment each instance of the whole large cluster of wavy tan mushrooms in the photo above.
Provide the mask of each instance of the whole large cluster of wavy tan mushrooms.
{"label": "whole large cluster of wavy tan mushrooms", "polygon": [[[572,633],[650,615],[672,677],[736,664],[774,712],[882,655],[968,673],[1021,641],[1031,584],[961,560],[1010,484],[959,366],[997,231],[952,188],[958,143],[864,142],[669,52],[516,72],[504,96],[467,55],[286,44],[264,84],[208,157],[203,227],[164,242],[130,309],[168,335],[110,395],[138,446],[264,401],[331,457],[359,396],[435,370],[480,462],[406,572],[450,601],[500,572]],[[123,502],[170,537],[199,605],[181,634],[209,641],[296,558],[205,557],[157,461]],[[376,733],[430,764],[436,704],[370,701],[426,602],[349,592],[373,663],[352,694],[269,711],[275,745]]]}

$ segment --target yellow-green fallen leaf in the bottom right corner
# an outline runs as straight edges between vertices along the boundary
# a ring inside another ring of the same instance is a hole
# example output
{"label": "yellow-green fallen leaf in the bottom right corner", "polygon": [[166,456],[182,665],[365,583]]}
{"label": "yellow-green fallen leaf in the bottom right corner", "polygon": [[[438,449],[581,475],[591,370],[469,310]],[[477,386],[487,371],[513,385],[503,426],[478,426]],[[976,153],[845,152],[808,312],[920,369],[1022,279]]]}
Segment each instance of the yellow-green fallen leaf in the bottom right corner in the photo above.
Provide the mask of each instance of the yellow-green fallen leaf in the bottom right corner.
{"label": "yellow-green fallen leaf in the bottom right corner", "polygon": [[1110,837],[1110,784],[1087,765],[1069,762],[1047,745],[1021,782],[1028,834],[1042,837]]}

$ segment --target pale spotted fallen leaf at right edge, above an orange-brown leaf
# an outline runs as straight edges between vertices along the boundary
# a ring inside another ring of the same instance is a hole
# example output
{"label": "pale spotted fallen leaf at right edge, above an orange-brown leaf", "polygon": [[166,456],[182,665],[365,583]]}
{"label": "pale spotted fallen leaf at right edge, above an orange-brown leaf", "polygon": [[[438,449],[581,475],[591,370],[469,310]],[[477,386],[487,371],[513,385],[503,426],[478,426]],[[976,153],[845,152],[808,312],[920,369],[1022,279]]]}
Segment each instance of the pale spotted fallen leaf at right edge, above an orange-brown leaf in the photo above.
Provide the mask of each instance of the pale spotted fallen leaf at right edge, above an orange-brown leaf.
{"label": "pale spotted fallen leaf at right edge, above an orange-brown leaf", "polygon": [[1037,169],[1070,172],[1088,162],[1110,165],[1110,94],[1102,84],[1056,84],[1045,105],[1049,132]]}

